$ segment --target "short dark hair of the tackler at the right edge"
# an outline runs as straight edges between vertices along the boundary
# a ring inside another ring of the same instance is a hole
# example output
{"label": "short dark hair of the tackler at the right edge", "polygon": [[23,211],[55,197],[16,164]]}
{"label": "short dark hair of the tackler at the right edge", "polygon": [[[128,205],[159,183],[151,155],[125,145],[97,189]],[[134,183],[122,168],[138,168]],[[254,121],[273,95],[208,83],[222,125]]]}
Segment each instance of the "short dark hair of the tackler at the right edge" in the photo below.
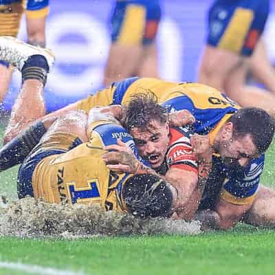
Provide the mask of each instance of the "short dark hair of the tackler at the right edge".
{"label": "short dark hair of the tackler at the right edge", "polygon": [[264,153],[274,136],[274,119],[263,109],[241,108],[228,120],[233,124],[233,137],[250,135],[259,153]]}

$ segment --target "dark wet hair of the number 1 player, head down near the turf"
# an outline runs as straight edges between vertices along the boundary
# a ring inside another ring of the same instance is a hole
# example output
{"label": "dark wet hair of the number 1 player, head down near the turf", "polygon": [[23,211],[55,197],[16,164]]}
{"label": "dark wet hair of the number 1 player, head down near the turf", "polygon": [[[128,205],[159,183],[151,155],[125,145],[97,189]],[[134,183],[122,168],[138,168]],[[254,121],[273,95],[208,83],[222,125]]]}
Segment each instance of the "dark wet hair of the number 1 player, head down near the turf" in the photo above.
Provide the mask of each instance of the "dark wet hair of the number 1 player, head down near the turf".
{"label": "dark wet hair of the number 1 player, head down near the turf", "polygon": [[126,209],[137,217],[166,217],[172,208],[173,195],[166,182],[149,174],[133,175],[122,188]]}

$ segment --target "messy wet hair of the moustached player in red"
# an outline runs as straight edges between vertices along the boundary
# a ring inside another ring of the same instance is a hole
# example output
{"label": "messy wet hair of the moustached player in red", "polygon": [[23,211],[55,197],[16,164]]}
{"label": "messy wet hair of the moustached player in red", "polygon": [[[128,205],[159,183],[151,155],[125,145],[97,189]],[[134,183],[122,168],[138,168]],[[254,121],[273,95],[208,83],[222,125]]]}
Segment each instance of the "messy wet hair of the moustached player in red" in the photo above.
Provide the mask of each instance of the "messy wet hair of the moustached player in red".
{"label": "messy wet hair of the moustached player in red", "polygon": [[168,111],[158,104],[157,96],[152,91],[131,96],[126,106],[124,120],[126,130],[131,131],[134,127],[138,127],[142,131],[147,131],[152,120],[162,124],[168,120]]}

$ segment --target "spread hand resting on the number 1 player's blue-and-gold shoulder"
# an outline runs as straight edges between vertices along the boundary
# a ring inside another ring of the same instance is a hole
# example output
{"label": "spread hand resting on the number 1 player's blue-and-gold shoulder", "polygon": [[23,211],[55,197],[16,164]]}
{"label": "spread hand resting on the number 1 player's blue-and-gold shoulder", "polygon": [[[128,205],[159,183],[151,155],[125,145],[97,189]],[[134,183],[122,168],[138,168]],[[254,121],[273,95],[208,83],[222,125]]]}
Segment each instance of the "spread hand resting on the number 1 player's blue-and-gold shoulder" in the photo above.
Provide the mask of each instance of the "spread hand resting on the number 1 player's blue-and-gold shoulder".
{"label": "spread hand resting on the number 1 player's blue-and-gold shoulder", "polygon": [[102,155],[102,159],[107,164],[107,168],[124,173],[137,173],[141,163],[129,146],[121,140],[117,142],[118,144],[104,146],[104,150],[108,152]]}

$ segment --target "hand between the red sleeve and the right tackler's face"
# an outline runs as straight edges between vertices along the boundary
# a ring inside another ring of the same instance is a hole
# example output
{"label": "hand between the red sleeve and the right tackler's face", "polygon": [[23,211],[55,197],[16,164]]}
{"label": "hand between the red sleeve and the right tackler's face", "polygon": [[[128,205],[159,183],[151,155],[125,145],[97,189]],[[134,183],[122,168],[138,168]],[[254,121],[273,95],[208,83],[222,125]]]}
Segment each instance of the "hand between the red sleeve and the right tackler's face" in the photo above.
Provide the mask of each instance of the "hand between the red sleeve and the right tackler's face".
{"label": "hand between the red sleeve and the right tackler's face", "polygon": [[212,159],[212,148],[210,145],[209,135],[192,135],[190,142],[193,152],[200,162],[210,162]]}

